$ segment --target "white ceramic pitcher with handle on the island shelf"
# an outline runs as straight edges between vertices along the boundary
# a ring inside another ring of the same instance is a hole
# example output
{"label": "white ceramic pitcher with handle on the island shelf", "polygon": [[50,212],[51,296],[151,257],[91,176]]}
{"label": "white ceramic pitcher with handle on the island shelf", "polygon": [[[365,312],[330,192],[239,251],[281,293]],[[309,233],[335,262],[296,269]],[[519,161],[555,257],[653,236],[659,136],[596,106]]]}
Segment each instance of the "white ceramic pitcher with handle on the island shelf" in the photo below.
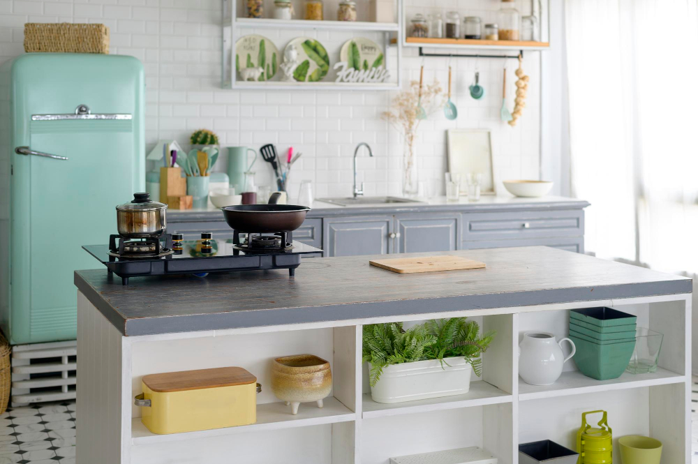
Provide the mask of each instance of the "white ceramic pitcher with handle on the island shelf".
{"label": "white ceramic pitcher with handle on the island shelf", "polygon": [[[572,352],[566,358],[562,349],[563,341],[572,345]],[[554,384],[563,373],[563,364],[569,361],[575,352],[577,347],[569,338],[563,338],[558,342],[553,334],[526,332],[519,345],[519,375],[527,384]]]}

